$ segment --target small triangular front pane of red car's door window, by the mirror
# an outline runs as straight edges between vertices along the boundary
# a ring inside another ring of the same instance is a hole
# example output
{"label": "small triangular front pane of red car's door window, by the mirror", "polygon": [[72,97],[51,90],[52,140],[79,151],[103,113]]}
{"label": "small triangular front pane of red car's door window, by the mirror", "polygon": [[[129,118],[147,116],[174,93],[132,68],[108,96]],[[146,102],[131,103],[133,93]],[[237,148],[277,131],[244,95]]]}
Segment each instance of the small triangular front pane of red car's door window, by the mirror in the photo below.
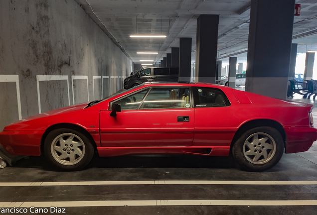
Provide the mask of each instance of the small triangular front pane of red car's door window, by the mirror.
{"label": "small triangular front pane of red car's door window, by the mirror", "polygon": [[137,109],[147,95],[149,89],[125,96],[123,99],[115,101],[121,104],[121,109]]}

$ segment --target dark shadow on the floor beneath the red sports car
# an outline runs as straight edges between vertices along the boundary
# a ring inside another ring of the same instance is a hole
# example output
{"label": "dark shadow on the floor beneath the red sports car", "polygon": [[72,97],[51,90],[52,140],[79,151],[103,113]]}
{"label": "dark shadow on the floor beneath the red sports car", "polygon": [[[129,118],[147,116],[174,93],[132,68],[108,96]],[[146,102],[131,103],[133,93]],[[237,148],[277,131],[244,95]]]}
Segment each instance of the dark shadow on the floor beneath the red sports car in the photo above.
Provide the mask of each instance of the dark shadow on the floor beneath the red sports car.
{"label": "dark shadow on the floor beneath the red sports car", "polygon": [[[46,171],[58,171],[48,165],[44,156],[30,156],[21,159],[12,167],[39,168]],[[197,156],[197,155],[130,155],[116,157],[99,157],[95,154],[84,169],[89,168],[239,168],[231,156]]]}

